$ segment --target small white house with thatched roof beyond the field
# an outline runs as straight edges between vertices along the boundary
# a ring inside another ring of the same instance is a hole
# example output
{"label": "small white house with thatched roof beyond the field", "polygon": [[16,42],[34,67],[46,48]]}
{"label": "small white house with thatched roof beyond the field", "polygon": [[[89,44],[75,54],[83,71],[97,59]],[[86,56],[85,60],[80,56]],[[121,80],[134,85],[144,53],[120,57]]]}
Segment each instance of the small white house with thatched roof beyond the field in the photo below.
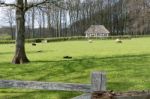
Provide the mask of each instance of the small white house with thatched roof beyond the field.
{"label": "small white house with thatched roof beyond the field", "polygon": [[108,37],[109,33],[104,25],[91,25],[85,31],[86,37]]}

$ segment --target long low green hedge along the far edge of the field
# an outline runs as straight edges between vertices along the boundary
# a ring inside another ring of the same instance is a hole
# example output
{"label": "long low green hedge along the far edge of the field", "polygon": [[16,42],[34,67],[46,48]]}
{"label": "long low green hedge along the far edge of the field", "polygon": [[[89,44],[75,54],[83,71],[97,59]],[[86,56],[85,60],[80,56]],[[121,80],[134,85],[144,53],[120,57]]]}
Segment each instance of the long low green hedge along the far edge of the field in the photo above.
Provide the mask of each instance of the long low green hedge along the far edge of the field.
{"label": "long low green hedge along the far edge of the field", "polygon": [[[73,41],[73,40],[88,40],[88,39],[97,39],[97,40],[112,40],[112,39],[131,39],[131,38],[139,38],[139,37],[147,37],[143,35],[138,36],[109,36],[109,37],[90,37],[87,38],[85,36],[74,36],[74,37],[57,37],[57,38],[34,38],[34,39],[26,39],[26,43],[41,43],[43,41],[46,42],[59,42],[59,41]],[[150,37],[150,36],[148,36]],[[15,40],[0,40],[0,44],[12,44],[15,43]]]}

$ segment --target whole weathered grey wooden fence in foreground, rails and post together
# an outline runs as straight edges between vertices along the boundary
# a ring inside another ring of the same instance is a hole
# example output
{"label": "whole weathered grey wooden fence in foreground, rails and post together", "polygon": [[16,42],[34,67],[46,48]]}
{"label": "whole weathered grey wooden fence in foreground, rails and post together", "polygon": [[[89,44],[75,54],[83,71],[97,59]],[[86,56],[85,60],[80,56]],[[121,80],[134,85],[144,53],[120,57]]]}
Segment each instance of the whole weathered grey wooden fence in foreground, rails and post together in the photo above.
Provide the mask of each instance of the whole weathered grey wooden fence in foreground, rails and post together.
{"label": "whole weathered grey wooden fence in foreground, rails and post together", "polygon": [[135,96],[113,96],[113,98],[93,97],[93,94],[97,92],[107,92],[106,74],[104,72],[93,72],[91,74],[91,84],[0,80],[0,88],[25,88],[52,91],[59,90],[85,92],[85,94],[72,99],[150,99],[150,92],[139,95],[136,94]]}

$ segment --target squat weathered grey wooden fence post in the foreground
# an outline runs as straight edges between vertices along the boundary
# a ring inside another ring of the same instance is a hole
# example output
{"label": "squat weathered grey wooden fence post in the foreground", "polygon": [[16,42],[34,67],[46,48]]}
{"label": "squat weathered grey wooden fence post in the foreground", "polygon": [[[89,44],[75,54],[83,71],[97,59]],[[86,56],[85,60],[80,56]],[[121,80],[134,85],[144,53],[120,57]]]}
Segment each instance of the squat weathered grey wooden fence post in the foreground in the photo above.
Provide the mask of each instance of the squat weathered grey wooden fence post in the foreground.
{"label": "squat weathered grey wooden fence post in the foreground", "polygon": [[106,74],[104,72],[93,72],[91,75],[91,91],[106,91]]}

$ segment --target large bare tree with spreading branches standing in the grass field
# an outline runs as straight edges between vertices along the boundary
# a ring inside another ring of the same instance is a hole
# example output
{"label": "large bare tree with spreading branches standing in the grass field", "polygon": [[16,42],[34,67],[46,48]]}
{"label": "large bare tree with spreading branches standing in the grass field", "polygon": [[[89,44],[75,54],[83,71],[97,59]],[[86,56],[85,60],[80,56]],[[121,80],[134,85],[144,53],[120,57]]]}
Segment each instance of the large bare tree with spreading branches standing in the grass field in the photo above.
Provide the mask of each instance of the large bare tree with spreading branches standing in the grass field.
{"label": "large bare tree with spreading branches standing in the grass field", "polygon": [[0,0],[1,6],[13,6],[16,8],[16,49],[12,63],[23,64],[29,62],[25,52],[25,13],[33,7],[46,3],[53,3],[56,5],[56,1],[60,0],[40,0],[37,3],[29,3],[28,0],[16,0],[16,3],[13,4],[5,3]]}

